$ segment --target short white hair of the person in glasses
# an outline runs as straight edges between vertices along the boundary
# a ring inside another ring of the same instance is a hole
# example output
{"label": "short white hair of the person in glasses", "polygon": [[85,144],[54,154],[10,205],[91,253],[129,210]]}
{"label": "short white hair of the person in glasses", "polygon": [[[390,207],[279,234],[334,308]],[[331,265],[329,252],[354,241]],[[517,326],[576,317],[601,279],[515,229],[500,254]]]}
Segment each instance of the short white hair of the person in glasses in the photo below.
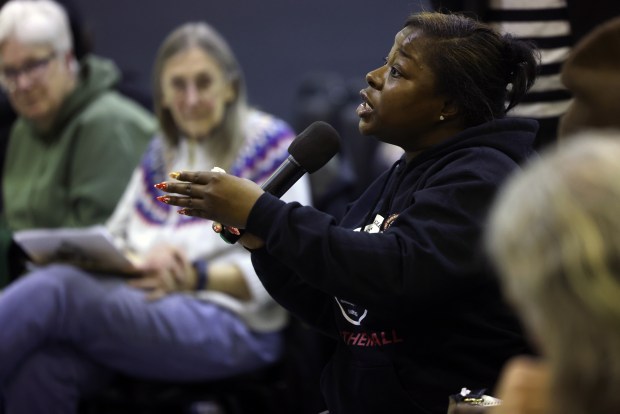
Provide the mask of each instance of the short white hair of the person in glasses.
{"label": "short white hair of the person in glasses", "polygon": [[57,53],[73,49],[69,18],[53,0],[11,0],[0,9],[0,44],[16,38],[27,45],[49,45]]}

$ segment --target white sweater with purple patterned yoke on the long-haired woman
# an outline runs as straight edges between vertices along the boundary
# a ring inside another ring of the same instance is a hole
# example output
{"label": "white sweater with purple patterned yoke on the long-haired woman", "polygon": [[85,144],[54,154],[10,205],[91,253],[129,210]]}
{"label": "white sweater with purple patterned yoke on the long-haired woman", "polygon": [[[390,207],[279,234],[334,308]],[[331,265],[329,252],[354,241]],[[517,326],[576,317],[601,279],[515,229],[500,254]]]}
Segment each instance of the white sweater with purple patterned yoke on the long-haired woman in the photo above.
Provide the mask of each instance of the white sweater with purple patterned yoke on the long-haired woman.
{"label": "white sweater with purple patterned yoke on the long-haired woman", "polygon": [[[282,120],[256,110],[251,110],[245,130],[246,142],[228,173],[261,183],[288,157],[287,149],[295,135]],[[176,212],[178,207],[155,199],[163,193],[153,185],[169,180],[169,172],[210,170],[217,165],[217,160],[212,159],[200,144],[192,147],[188,140],[183,139],[177,148],[170,148],[162,137],[155,137],[141,165],[134,171],[108,228],[123,249],[138,257],[156,245],[166,243],[181,248],[191,261],[233,262],[242,270],[253,300],[240,302],[226,294],[208,290],[197,292],[197,297],[231,309],[256,330],[279,329],[286,321],[286,314],[264,290],[249,253],[240,245],[226,244],[211,229],[211,221],[180,215]],[[307,178],[298,181],[283,199],[309,204]]]}

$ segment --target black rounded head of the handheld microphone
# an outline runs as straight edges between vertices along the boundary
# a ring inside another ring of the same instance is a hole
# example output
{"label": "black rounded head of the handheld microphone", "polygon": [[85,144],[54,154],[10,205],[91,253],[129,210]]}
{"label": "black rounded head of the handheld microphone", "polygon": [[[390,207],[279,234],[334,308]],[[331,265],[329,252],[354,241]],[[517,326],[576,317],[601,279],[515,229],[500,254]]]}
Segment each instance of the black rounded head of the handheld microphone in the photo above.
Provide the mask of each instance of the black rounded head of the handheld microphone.
{"label": "black rounded head of the handheld microphone", "polygon": [[340,135],[327,122],[316,121],[291,142],[288,153],[312,174],[340,151]]}

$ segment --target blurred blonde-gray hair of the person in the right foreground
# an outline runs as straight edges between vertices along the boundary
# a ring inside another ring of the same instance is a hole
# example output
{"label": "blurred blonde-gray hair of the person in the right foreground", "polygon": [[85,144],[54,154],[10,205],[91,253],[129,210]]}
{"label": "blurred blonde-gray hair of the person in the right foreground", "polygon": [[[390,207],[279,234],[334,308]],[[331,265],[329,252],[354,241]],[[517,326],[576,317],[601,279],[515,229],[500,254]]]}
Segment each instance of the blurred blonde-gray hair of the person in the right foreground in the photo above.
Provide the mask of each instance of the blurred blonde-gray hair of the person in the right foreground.
{"label": "blurred blonde-gray hair of the person in the right foreground", "polygon": [[584,131],[515,174],[486,247],[552,369],[554,412],[620,408],[620,131]]}

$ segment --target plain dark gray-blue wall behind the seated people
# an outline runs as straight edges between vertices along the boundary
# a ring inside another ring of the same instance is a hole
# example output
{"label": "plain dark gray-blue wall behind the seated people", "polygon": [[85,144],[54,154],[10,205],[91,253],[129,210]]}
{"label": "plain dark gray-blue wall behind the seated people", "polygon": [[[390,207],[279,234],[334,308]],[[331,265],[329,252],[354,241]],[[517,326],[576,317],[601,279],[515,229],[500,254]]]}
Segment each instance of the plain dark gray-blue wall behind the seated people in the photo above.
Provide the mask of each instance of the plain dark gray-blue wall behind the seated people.
{"label": "plain dark gray-blue wall behind the seated people", "polygon": [[156,50],[173,28],[204,20],[230,42],[251,103],[287,120],[300,79],[333,71],[363,79],[425,0],[75,0],[95,50],[150,90]]}

